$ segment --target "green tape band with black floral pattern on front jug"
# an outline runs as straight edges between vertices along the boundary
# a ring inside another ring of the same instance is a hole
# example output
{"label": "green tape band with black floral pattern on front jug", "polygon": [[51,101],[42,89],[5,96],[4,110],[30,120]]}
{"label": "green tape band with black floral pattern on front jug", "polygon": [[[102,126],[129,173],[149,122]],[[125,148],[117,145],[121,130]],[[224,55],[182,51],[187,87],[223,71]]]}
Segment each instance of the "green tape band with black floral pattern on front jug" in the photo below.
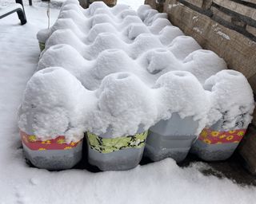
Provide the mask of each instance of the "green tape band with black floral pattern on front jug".
{"label": "green tape band with black floral pattern on front jug", "polygon": [[136,135],[129,135],[118,138],[102,138],[87,132],[87,139],[90,148],[99,151],[103,154],[113,151],[128,149],[128,148],[141,148],[145,146],[146,136],[148,131]]}

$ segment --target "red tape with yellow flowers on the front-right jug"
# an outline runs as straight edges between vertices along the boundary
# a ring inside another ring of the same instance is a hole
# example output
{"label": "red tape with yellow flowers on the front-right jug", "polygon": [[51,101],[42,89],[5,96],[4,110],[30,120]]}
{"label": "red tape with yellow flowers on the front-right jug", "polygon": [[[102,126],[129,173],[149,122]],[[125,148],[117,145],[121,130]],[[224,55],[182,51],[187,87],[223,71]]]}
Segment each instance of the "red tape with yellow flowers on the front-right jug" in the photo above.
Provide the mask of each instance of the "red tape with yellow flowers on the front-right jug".
{"label": "red tape with yellow flowers on the front-right jug", "polygon": [[245,133],[246,129],[235,131],[212,131],[210,128],[205,128],[198,139],[209,144],[239,143]]}

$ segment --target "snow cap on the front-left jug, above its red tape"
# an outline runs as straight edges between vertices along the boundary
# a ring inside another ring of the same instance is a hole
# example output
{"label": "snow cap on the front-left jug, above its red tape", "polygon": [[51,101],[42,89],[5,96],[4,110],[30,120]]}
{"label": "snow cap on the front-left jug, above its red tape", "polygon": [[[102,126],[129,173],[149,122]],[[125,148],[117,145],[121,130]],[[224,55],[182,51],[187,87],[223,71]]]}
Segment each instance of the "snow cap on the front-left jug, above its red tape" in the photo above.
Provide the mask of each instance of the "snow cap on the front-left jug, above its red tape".
{"label": "snow cap on the front-left jug, above its red tape", "polygon": [[26,86],[19,127],[39,139],[65,132],[70,141],[79,141],[84,135],[83,110],[91,108],[93,97],[65,69],[43,69]]}

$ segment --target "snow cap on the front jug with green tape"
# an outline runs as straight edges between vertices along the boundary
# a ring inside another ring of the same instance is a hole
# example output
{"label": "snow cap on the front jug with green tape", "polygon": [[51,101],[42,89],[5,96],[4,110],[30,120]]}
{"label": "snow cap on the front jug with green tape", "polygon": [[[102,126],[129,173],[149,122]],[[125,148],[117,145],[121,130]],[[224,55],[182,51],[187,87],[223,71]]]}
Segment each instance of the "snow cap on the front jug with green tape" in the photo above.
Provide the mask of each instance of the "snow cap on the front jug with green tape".
{"label": "snow cap on the front jug with green tape", "polygon": [[88,128],[97,135],[111,128],[113,136],[134,135],[154,124],[158,99],[132,73],[114,73],[102,80],[97,91],[98,109],[92,112]]}

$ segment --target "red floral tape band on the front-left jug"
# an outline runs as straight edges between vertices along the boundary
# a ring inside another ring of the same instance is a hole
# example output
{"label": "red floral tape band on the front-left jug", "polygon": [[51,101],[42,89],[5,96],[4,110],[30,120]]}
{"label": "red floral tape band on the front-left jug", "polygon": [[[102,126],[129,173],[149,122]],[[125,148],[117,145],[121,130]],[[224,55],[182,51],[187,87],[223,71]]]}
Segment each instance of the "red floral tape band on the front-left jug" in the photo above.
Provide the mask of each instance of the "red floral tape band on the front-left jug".
{"label": "red floral tape band on the front-left jug", "polygon": [[66,143],[64,136],[58,136],[56,139],[46,141],[38,140],[35,135],[27,135],[25,132],[20,131],[23,145],[26,145],[30,150],[46,151],[46,150],[70,150],[78,146],[82,140],[77,143]]}

